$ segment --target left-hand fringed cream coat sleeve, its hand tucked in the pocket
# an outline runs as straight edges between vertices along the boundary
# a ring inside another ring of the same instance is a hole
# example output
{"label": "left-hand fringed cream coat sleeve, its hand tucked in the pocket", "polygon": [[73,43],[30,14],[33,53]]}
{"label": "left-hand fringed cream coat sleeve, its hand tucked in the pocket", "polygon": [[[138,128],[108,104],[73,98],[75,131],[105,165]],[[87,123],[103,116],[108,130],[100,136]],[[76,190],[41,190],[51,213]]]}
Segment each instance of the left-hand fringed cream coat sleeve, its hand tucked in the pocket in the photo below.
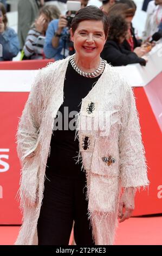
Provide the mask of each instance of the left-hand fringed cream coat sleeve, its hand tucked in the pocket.
{"label": "left-hand fringed cream coat sleeve, its hand tucked in the pocket", "polygon": [[17,153],[23,163],[25,157],[35,155],[42,115],[42,70],[31,87],[17,131]]}

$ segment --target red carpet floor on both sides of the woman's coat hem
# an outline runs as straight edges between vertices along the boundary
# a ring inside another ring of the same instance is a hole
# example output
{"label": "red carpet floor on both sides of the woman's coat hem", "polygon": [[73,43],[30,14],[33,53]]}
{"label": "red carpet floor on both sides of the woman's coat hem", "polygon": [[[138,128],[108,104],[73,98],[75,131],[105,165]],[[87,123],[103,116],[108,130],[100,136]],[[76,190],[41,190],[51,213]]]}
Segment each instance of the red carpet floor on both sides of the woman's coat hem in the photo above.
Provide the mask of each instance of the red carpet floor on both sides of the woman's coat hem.
{"label": "red carpet floor on both sides of the woman's coat hem", "polygon": [[[19,229],[0,226],[0,245],[13,245]],[[115,245],[162,245],[162,217],[130,218],[120,223]]]}

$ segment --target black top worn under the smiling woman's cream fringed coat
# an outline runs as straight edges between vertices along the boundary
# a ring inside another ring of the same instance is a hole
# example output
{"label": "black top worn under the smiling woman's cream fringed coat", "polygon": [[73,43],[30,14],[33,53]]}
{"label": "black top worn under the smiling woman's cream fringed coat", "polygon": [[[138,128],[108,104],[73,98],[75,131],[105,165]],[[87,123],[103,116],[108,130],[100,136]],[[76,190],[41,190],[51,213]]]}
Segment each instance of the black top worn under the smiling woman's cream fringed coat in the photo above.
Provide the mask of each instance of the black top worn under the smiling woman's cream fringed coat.
{"label": "black top worn under the smiling woman's cream fringed coat", "polygon": [[55,118],[54,131],[50,142],[50,156],[47,162],[49,168],[46,170],[47,178],[50,178],[51,175],[76,177],[81,174],[81,163],[76,164],[79,141],[78,139],[74,141],[75,120],[77,118],[75,115],[80,111],[82,99],[87,96],[100,76],[94,78],[83,77],[68,63],[63,88],[64,102],[59,109],[59,117],[57,115]]}

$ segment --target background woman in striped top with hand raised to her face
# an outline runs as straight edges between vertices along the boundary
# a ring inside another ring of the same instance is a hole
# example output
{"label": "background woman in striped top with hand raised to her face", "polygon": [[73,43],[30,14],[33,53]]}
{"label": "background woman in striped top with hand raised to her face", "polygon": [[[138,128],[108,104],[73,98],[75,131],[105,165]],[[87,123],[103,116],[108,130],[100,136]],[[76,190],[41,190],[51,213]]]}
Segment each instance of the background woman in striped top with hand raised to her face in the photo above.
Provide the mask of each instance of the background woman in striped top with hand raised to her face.
{"label": "background woman in striped top with hand raised to her face", "polygon": [[23,47],[23,59],[43,59],[44,39],[48,24],[51,20],[58,19],[60,11],[54,5],[47,5],[41,8],[38,18],[33,26],[31,26],[25,45]]}

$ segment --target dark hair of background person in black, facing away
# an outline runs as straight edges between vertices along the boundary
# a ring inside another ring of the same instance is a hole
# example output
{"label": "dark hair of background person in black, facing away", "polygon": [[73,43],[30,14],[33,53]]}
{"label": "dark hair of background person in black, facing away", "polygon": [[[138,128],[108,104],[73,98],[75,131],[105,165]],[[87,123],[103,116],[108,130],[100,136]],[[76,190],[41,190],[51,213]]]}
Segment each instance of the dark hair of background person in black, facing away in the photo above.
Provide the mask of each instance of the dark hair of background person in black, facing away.
{"label": "dark hair of background person in black, facing away", "polygon": [[128,25],[124,17],[111,16],[110,17],[110,29],[108,34],[108,40],[113,40],[119,43],[120,36],[126,36],[128,31]]}

